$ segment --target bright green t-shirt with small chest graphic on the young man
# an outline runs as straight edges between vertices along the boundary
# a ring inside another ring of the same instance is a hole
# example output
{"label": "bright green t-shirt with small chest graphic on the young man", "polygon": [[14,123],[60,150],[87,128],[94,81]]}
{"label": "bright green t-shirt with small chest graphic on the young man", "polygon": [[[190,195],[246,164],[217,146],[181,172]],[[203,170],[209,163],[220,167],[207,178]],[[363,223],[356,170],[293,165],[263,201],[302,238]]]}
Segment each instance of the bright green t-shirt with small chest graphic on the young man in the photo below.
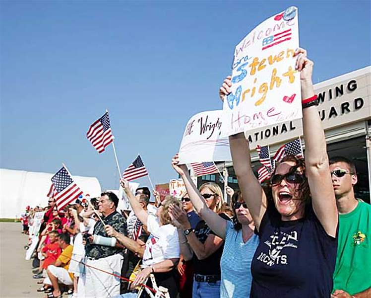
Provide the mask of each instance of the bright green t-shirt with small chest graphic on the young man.
{"label": "bright green t-shirt with small chest graphic on the young man", "polygon": [[371,205],[358,202],[355,210],[339,215],[334,290],[350,295],[371,287]]}

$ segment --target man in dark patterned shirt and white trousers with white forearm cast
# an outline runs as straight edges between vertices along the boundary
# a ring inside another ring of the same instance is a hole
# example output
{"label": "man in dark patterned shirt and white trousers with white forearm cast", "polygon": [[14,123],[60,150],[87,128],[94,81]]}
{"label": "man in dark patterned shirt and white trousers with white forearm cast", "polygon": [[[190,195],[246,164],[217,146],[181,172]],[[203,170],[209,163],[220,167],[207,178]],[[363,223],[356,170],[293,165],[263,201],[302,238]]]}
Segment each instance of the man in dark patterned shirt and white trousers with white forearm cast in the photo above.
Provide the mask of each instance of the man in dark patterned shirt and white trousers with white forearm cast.
{"label": "man in dark patterned shirt and white trousers with white forearm cast", "polygon": [[[119,198],[114,193],[103,192],[99,199],[99,212],[105,225],[111,225],[126,235],[126,221],[116,211],[118,204]],[[89,267],[120,275],[124,259],[123,249],[119,243],[116,244],[116,238],[106,234],[105,225],[101,221],[94,225],[93,235],[89,236],[85,246],[87,256],[85,297],[103,298],[120,295],[119,278]]]}

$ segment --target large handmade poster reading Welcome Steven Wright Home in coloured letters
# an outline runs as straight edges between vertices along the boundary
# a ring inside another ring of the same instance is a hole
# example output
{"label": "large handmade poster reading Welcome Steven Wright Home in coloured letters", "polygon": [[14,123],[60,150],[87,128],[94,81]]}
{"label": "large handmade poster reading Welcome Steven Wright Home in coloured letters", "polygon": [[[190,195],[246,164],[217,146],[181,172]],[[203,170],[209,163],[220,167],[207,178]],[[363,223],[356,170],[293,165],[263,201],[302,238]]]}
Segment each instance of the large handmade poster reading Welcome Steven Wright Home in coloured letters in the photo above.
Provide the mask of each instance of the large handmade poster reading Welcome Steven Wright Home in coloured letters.
{"label": "large handmade poster reading Welcome Steven Wright Home in coloured letters", "polygon": [[291,6],[253,29],[236,46],[232,92],[223,103],[223,136],[302,117],[298,8]]}

